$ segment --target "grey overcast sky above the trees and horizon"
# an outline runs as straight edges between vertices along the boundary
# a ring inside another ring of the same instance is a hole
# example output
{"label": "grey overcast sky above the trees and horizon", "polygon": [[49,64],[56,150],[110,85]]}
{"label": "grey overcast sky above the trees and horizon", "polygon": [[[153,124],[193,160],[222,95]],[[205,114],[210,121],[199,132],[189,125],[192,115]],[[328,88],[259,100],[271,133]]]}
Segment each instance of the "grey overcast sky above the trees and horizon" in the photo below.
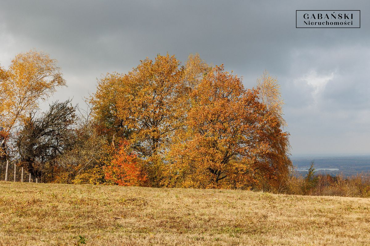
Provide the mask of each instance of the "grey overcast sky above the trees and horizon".
{"label": "grey overcast sky above the trees and horizon", "polygon": [[[361,28],[295,28],[296,10],[361,10]],[[0,64],[43,50],[68,88],[94,93],[97,78],[145,57],[189,53],[243,76],[264,69],[281,84],[292,154],[370,153],[370,1],[4,1]]]}

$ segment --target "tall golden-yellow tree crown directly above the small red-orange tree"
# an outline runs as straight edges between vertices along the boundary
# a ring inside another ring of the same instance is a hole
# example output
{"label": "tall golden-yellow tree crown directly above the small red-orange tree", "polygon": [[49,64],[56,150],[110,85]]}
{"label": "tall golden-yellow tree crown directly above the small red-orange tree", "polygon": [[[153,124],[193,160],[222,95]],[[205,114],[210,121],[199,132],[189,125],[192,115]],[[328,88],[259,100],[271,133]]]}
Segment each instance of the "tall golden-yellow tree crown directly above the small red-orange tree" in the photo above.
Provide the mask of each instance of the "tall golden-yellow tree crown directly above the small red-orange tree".
{"label": "tall golden-yellow tree crown directly above the small red-orange tree", "polygon": [[145,59],[123,79],[118,116],[132,131],[135,150],[145,157],[164,151],[184,116],[182,69],[174,56],[161,56],[155,62]]}

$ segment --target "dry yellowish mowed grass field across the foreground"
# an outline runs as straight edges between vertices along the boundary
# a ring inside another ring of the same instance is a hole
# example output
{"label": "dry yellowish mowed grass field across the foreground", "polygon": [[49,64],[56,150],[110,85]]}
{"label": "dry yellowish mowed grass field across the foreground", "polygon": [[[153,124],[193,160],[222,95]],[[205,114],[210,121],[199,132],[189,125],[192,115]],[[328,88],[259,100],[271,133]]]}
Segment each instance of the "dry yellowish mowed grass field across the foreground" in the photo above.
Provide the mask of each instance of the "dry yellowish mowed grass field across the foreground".
{"label": "dry yellowish mowed grass field across the foreground", "polygon": [[370,199],[0,182],[0,245],[370,245]]}

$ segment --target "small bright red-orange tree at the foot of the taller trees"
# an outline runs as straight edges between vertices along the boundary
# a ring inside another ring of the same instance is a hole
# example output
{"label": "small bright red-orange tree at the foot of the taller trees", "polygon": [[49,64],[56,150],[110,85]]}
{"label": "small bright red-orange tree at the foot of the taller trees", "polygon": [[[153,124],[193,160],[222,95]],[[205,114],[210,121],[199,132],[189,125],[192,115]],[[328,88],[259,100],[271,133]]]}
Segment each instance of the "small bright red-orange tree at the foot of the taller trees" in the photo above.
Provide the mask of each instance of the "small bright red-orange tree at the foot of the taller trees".
{"label": "small bright red-orange tree at the foot of the taller trees", "polygon": [[147,181],[141,167],[141,160],[134,153],[129,153],[129,144],[124,141],[112,157],[110,164],[105,166],[105,180],[120,186],[140,186]]}

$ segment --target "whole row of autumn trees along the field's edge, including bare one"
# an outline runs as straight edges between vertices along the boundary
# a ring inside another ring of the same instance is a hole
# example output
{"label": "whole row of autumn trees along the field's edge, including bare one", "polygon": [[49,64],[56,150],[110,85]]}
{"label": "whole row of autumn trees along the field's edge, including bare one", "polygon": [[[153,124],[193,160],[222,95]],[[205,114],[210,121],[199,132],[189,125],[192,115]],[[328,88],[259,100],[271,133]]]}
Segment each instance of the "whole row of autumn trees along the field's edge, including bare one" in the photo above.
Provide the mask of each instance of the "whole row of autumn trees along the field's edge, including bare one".
{"label": "whole row of autumn trees along the field's edge, including bare one", "polygon": [[151,187],[277,188],[289,176],[279,85],[256,88],[198,54],[145,59],[98,81],[88,109],[37,103],[64,86],[55,60],[30,51],[1,69],[1,156],[44,180]]}

